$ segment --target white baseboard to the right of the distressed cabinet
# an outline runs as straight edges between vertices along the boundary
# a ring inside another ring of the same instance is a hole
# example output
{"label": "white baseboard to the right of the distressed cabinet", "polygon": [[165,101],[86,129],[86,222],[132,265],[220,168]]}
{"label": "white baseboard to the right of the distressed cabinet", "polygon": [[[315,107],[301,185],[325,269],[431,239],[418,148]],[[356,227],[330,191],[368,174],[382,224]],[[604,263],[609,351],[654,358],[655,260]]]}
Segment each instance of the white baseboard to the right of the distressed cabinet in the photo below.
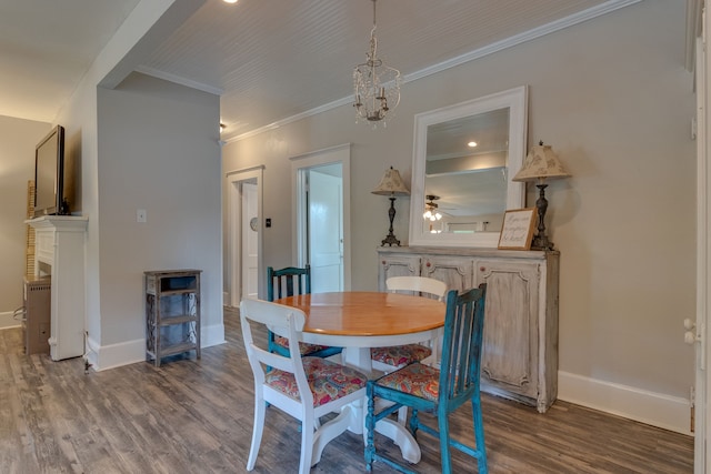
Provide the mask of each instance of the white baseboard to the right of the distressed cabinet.
{"label": "white baseboard to the right of the distressed cabinet", "polygon": [[687,399],[562,371],[558,372],[558,399],[677,433],[693,435],[690,427],[691,403]]}

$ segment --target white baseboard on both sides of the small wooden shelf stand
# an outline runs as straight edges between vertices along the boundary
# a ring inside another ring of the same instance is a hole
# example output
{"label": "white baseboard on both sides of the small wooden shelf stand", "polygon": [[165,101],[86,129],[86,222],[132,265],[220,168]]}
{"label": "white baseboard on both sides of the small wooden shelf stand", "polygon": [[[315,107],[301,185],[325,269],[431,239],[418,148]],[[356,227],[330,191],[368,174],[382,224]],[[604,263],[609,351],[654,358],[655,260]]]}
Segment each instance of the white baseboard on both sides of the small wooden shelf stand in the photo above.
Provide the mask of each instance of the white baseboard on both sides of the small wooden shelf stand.
{"label": "white baseboard on both sides of the small wooden shelf stand", "polygon": [[[224,324],[202,326],[200,332],[200,346],[223,344]],[[100,345],[94,340],[87,340],[89,351],[87,359],[94,371],[106,371],[121,365],[134,364],[146,361],[146,339],[120,342],[118,344]]]}

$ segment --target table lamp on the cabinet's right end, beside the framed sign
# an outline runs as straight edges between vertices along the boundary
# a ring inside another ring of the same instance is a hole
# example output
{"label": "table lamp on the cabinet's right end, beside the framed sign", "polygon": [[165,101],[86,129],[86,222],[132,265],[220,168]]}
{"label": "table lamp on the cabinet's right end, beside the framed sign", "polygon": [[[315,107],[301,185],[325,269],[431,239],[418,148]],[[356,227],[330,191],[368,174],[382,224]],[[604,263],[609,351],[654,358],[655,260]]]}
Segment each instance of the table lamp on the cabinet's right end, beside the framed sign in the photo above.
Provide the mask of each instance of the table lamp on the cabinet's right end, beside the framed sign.
{"label": "table lamp on the cabinet's right end, beside the framed sign", "polygon": [[548,240],[545,235],[545,211],[548,209],[548,200],[545,199],[545,180],[554,180],[559,178],[568,178],[570,174],[563,169],[558,160],[558,155],[553,153],[551,147],[539,142],[533,145],[529,154],[523,160],[523,164],[513,181],[538,181],[535,186],[540,190],[539,198],[535,201],[538,209],[538,232],[531,242],[532,250],[553,250],[553,242]]}

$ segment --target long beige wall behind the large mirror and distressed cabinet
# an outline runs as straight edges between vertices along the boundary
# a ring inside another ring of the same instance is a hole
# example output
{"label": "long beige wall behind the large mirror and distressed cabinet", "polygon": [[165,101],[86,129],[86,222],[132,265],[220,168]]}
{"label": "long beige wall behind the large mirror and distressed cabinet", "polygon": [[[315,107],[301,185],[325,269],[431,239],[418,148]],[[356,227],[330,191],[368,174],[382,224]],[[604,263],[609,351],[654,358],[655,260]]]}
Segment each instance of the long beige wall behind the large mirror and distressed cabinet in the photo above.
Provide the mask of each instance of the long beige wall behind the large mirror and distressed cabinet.
{"label": "long beige wall behind the large mirror and distressed cabinet", "polygon": [[[264,265],[283,266],[288,158],[352,143],[352,289],[375,290],[389,201],[370,191],[389,165],[410,180],[413,115],[528,84],[529,145],[551,144],[572,174],[547,190],[547,226],[561,251],[559,396],[688,432],[693,351],[682,321],[695,314],[695,107],[683,52],[684,9],[640,2],[407,83],[384,130],[354,124],[344,105],[229,143],[224,171],[266,165],[273,226]],[[395,206],[394,233],[407,242],[409,199]]]}

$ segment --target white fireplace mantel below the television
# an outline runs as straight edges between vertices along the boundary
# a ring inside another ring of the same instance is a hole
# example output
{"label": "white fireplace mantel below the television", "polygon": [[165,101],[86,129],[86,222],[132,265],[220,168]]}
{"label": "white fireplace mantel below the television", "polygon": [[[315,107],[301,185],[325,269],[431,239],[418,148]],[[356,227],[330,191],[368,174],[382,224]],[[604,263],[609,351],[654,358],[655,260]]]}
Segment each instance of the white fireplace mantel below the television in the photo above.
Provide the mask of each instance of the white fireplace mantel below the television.
{"label": "white fireplace mantel below the television", "polygon": [[34,229],[34,276],[51,275],[50,356],[84,353],[84,244],[88,218],[44,215]]}

